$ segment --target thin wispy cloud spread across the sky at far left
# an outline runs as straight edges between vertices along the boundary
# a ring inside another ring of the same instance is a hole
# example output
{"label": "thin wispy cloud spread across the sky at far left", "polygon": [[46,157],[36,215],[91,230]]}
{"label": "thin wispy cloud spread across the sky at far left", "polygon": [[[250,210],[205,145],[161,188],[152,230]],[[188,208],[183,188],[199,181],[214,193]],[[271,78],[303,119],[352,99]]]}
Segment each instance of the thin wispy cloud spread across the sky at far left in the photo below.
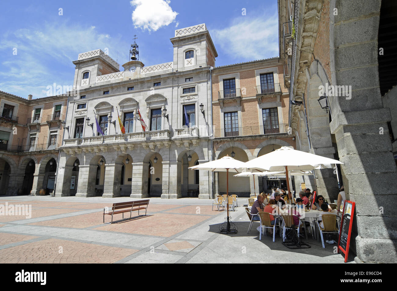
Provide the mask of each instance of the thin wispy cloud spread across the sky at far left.
{"label": "thin wispy cloud spread across the sky at far left", "polygon": [[[13,48],[17,54],[13,55]],[[44,23],[38,28],[8,31],[0,37],[0,90],[26,98],[46,96],[46,87],[73,85],[78,54],[108,48],[109,56],[128,60],[129,44],[121,36],[98,33],[95,27]]]}

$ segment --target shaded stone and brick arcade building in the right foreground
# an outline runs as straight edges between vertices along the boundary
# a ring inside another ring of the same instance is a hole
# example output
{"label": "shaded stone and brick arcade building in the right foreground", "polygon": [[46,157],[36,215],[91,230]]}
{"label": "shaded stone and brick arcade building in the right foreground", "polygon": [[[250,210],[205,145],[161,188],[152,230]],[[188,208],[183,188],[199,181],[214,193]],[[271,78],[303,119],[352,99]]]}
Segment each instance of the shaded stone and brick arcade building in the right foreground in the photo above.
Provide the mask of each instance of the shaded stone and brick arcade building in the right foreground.
{"label": "shaded stone and brick arcade building in the right foreground", "polygon": [[[280,53],[290,64],[289,124],[297,149],[344,163],[340,170],[316,170],[314,183],[332,201],[339,180],[347,199],[356,203],[351,250],[364,262],[397,261],[397,169],[390,141],[397,104],[390,102],[395,97],[389,91],[396,80],[378,63],[378,41],[382,35],[390,38],[391,30],[380,23],[396,17],[396,7],[384,9],[390,5],[279,1]],[[321,96],[327,98],[326,110],[318,102]]]}

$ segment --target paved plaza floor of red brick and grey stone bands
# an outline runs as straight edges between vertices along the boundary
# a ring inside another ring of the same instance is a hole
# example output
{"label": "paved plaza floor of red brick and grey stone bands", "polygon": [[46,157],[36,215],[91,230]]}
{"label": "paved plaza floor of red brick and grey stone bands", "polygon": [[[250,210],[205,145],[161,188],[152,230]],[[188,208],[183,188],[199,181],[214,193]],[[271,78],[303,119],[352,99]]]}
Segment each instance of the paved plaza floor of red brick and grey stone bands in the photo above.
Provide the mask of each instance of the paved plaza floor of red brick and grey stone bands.
{"label": "paved plaza floor of red brick and grey stone bands", "polygon": [[260,241],[259,223],[247,234],[246,198],[231,212],[235,235],[219,233],[225,211],[212,211],[212,200],[197,198],[150,198],[148,216],[102,222],[105,206],[131,200],[3,196],[0,204],[28,204],[32,213],[28,219],[0,216],[0,263],[343,263],[335,245],[323,249],[310,234],[305,241],[311,248],[299,250],[287,249],[279,235],[274,243],[269,235]]}

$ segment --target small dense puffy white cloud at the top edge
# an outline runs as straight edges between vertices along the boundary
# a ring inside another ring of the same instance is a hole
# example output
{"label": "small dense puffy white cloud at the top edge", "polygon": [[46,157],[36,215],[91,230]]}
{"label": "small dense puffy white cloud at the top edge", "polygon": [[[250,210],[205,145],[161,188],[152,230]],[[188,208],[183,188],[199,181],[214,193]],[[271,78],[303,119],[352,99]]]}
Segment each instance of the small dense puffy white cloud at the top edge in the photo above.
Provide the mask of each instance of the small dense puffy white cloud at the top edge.
{"label": "small dense puffy white cloud at the top edge", "polygon": [[135,27],[143,30],[156,31],[172,23],[178,15],[172,11],[169,0],[132,0],[130,3],[136,6],[132,13],[132,21]]}

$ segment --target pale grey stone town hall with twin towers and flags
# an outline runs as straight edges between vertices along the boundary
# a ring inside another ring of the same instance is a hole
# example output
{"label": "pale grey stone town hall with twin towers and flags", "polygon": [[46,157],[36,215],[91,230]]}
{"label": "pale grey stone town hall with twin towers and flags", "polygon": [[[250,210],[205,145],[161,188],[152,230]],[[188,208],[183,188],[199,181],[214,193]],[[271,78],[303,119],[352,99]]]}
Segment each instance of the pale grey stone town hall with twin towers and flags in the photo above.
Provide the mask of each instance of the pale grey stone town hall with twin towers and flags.
{"label": "pale grey stone town hall with twin towers and flags", "polygon": [[212,158],[210,67],[218,54],[205,24],[170,40],[169,63],[131,60],[119,71],[101,50],[73,62],[79,95],[69,100],[57,196],[210,198],[212,175],[188,168]]}

